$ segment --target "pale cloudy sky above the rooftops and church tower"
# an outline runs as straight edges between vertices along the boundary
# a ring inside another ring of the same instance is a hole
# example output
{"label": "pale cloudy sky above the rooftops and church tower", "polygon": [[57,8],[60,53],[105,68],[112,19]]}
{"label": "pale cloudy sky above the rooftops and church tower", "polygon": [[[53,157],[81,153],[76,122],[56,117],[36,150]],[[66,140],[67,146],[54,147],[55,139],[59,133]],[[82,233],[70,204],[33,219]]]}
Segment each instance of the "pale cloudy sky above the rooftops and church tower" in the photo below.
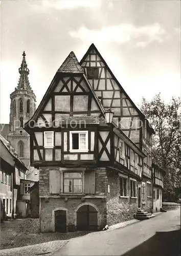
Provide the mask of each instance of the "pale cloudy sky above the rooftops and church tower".
{"label": "pale cloudy sky above the rooftops and church tower", "polygon": [[180,96],[180,1],[1,1],[1,123],[25,51],[39,105],[71,51],[94,43],[136,105]]}

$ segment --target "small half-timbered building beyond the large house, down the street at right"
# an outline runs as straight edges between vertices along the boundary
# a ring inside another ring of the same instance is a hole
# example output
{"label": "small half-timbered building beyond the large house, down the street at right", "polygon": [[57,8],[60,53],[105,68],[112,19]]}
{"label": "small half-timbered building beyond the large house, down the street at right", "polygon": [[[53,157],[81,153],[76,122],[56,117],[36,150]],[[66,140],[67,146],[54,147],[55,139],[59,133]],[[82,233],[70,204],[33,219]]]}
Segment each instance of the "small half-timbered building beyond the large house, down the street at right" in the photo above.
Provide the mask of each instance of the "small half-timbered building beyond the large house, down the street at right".
{"label": "small half-timbered building beyond the large house, down the street at right", "polygon": [[164,188],[164,176],[166,170],[162,167],[152,164],[153,172],[153,211],[160,211],[162,208],[162,191]]}

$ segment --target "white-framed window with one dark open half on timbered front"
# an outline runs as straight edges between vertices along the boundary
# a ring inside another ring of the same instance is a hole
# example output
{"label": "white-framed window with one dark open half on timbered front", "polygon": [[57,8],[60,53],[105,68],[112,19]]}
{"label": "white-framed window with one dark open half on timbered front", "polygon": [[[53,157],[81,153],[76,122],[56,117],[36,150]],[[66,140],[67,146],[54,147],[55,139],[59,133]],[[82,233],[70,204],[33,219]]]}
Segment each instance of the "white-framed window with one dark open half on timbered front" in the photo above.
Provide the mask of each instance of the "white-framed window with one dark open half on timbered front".
{"label": "white-framed window with one dark open half on timbered front", "polygon": [[70,132],[70,151],[88,152],[88,131]]}

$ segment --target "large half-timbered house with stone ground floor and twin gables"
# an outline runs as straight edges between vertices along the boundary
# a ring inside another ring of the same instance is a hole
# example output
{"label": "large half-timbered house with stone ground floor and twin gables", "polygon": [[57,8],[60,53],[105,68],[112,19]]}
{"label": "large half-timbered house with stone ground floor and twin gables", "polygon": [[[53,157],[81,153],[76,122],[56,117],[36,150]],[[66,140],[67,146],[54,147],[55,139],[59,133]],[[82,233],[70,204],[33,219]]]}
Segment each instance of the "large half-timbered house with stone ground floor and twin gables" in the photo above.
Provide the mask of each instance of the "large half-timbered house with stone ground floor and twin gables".
{"label": "large half-timbered house with stone ground floor and twin gables", "polygon": [[25,130],[41,232],[96,230],[152,210],[154,131],[94,45],[80,64],[69,54]]}

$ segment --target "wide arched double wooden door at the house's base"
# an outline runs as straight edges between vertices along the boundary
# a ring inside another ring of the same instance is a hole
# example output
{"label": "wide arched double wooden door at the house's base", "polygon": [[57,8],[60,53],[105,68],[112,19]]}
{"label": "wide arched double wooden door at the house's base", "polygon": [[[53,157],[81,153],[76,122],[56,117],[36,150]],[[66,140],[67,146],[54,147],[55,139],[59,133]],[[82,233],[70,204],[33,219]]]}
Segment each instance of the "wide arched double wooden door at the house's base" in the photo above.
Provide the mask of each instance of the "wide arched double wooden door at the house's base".
{"label": "wide arched double wooden door at the house's base", "polygon": [[77,210],[77,230],[97,230],[98,211],[92,205],[82,205]]}

